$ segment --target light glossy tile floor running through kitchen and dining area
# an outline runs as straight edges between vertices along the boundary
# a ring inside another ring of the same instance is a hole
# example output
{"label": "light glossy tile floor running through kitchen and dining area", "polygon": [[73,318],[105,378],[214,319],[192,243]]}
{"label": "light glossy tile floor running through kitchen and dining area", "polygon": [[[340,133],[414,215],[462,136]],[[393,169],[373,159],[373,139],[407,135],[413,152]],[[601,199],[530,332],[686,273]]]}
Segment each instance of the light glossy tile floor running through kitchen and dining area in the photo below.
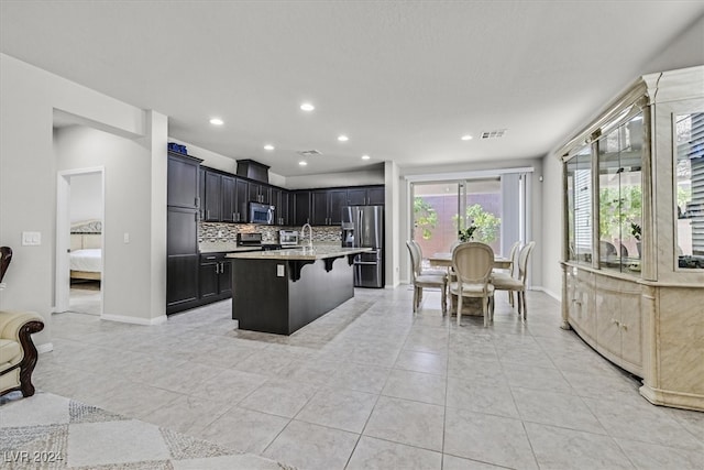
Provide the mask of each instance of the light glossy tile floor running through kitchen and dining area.
{"label": "light glossy tile floor running through kitchen and dining area", "polygon": [[356,289],[290,337],[235,329],[231,303],[135,326],[55,315],[35,384],[300,469],[704,469],[704,413],[658,407],[632,376],[496,299],[443,317],[439,293]]}

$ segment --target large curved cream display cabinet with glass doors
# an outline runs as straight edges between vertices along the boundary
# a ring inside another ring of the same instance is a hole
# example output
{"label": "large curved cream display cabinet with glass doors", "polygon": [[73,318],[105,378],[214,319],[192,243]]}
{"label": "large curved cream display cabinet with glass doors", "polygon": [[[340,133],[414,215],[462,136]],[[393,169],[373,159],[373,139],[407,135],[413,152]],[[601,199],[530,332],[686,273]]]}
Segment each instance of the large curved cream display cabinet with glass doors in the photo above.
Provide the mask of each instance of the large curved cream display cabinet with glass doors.
{"label": "large curved cream display cabinet with glass doors", "polygon": [[704,66],[640,77],[558,155],[562,328],[704,411]]}

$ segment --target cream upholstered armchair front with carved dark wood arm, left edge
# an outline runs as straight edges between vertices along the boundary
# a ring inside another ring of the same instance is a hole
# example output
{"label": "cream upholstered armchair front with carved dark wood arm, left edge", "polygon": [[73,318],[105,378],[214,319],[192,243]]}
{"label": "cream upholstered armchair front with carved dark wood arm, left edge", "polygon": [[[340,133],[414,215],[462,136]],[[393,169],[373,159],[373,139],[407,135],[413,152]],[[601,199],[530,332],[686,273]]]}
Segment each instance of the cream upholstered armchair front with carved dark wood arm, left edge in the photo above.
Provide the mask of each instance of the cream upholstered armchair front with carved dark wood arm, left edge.
{"label": "cream upholstered armchair front with carved dark wood arm, left edge", "polygon": [[0,395],[15,390],[34,395],[37,353],[31,335],[43,329],[44,320],[35,313],[0,311]]}

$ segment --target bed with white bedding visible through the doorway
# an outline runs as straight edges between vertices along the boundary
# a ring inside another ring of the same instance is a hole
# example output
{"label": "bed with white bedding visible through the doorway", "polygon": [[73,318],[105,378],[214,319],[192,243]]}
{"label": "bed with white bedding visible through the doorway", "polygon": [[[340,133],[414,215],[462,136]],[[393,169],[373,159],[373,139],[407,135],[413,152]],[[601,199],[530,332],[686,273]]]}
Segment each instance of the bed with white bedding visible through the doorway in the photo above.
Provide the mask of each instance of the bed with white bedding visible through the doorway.
{"label": "bed with white bedding visible through the doorway", "polygon": [[70,228],[70,278],[100,281],[102,272],[102,222],[88,220]]}

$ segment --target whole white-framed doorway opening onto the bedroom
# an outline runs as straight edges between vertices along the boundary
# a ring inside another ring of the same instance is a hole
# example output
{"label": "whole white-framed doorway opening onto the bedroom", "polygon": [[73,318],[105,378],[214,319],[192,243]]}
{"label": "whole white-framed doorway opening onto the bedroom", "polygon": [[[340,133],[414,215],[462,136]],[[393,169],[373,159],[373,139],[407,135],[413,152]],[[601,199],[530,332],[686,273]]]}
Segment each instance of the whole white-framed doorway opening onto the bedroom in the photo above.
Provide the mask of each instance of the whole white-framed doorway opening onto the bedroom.
{"label": "whole white-framed doorway opening onto the bedroom", "polygon": [[102,315],[105,171],[58,173],[56,313]]}

